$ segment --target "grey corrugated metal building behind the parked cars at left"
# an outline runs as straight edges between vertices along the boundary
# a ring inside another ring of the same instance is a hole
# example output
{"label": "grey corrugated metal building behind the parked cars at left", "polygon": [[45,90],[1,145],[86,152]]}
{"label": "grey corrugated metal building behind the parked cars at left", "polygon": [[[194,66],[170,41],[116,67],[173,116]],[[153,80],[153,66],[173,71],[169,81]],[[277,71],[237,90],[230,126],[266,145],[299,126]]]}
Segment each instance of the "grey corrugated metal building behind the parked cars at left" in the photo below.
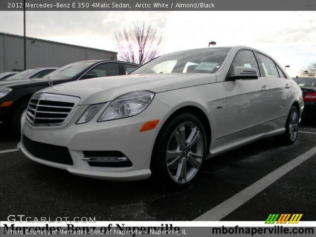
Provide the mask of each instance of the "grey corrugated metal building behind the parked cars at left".
{"label": "grey corrugated metal building behind the parked cars at left", "polygon": [[[24,70],[23,36],[0,32],[0,73]],[[26,38],[26,67],[62,67],[69,63],[93,60],[117,60],[117,52],[36,38]]]}

